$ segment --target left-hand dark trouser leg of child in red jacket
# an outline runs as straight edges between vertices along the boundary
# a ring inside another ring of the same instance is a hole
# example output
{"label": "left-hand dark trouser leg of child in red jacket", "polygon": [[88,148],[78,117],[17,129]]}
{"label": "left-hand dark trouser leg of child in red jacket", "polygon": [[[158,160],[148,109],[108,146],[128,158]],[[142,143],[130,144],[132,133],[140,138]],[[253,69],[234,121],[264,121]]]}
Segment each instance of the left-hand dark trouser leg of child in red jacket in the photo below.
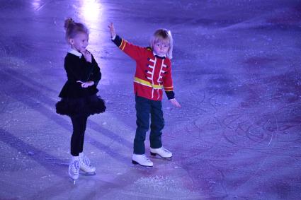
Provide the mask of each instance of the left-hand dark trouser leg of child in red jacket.
{"label": "left-hand dark trouser leg of child in red jacket", "polygon": [[137,97],[136,100],[136,135],[134,139],[134,154],[142,155],[145,153],[144,140],[149,129],[150,100]]}

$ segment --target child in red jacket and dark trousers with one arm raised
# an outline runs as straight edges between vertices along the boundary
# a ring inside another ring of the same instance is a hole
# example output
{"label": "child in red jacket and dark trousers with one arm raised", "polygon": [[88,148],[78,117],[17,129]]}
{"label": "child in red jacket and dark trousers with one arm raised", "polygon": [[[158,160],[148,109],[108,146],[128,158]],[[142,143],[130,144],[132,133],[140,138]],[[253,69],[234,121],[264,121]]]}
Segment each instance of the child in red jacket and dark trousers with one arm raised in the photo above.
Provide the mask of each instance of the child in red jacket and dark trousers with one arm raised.
{"label": "child in red jacket and dark trousers with one arm raised", "polygon": [[162,88],[167,98],[176,106],[181,107],[174,98],[174,86],[171,78],[171,61],[173,40],[171,32],[166,29],[157,30],[150,47],[138,47],[116,35],[113,23],[108,25],[110,36],[125,54],[136,61],[134,92],[136,101],[137,129],[134,139],[132,163],[152,167],[153,163],[145,153],[144,140],[149,129],[151,115],[151,131],[149,135],[151,155],[171,158],[172,153],[162,146],[161,135],[164,128],[162,112]]}

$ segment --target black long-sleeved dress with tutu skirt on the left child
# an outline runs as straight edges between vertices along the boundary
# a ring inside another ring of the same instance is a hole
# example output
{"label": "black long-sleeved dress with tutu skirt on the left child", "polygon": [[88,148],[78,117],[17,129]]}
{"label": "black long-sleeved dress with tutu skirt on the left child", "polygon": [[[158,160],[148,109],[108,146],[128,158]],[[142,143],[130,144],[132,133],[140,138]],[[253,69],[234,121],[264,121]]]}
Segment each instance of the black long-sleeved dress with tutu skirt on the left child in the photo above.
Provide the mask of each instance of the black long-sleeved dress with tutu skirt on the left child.
{"label": "black long-sleeved dress with tutu skirt on the left child", "polygon": [[[93,56],[90,63],[84,59],[84,56],[78,57],[68,53],[64,59],[64,69],[68,80],[59,93],[62,99],[55,105],[57,113],[73,117],[78,114],[89,116],[105,112],[106,105],[103,99],[96,95],[101,71]],[[81,83],[76,81],[94,81],[94,85],[82,88]]]}

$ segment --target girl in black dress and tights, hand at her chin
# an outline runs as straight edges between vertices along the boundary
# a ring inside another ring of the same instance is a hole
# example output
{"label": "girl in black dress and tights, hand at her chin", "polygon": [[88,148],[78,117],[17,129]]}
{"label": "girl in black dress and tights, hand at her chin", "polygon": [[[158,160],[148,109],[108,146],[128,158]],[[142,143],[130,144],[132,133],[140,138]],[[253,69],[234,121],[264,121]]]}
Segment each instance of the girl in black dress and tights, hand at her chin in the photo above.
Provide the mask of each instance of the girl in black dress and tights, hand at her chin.
{"label": "girl in black dress and tights, hand at her chin", "polygon": [[106,106],[96,93],[101,71],[92,54],[86,49],[89,30],[82,23],[75,23],[67,18],[64,23],[69,51],[64,58],[64,69],[67,82],[64,84],[56,104],[58,114],[71,118],[73,134],[71,137],[71,162],[69,176],[75,181],[79,178],[79,170],[95,172],[89,158],[83,153],[86,122],[91,114],[101,113]]}

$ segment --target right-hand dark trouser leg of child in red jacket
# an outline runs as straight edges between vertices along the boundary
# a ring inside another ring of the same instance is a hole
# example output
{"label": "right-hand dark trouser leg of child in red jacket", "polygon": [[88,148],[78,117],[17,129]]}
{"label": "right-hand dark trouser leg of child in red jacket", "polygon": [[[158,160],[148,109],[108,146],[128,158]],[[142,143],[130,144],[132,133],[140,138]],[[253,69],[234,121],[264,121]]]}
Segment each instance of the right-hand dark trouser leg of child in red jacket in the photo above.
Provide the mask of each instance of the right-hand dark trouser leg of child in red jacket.
{"label": "right-hand dark trouser leg of child in red jacket", "polygon": [[149,141],[151,148],[161,148],[161,135],[164,128],[164,118],[161,101],[152,101],[151,107],[151,132]]}

